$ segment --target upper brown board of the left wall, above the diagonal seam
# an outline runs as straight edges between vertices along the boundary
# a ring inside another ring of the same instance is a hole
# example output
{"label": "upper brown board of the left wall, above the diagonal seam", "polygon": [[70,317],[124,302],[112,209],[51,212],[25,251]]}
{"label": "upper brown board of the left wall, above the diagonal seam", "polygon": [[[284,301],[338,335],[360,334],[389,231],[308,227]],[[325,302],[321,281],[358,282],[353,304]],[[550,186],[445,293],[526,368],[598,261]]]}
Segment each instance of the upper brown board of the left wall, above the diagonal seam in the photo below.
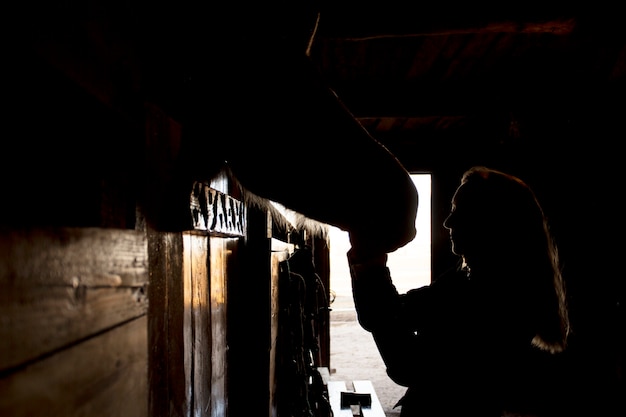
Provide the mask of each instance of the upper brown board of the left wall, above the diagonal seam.
{"label": "upper brown board of the left wall, above the diagonal seam", "polygon": [[134,230],[1,232],[0,370],[145,315],[147,263]]}

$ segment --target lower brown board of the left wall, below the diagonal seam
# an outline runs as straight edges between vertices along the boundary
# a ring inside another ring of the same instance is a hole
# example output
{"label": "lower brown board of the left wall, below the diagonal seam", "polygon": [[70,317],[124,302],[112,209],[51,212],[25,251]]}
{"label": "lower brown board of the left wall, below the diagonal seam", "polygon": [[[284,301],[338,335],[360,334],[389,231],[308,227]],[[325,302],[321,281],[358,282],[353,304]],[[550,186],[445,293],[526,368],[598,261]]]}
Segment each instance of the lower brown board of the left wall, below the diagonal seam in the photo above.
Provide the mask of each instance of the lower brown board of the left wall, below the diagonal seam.
{"label": "lower brown board of the left wall, below the diagonal seam", "polygon": [[0,415],[147,417],[147,316],[0,378]]}

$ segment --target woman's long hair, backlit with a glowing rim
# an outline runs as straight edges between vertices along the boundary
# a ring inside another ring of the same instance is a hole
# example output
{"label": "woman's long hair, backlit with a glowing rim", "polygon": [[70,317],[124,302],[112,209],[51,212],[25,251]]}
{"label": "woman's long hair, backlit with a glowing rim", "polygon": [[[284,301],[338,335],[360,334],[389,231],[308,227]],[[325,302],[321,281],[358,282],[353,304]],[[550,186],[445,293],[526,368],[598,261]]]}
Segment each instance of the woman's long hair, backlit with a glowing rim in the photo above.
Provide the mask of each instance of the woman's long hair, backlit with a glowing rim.
{"label": "woman's long hair, backlit with a glowing rim", "polygon": [[521,297],[523,314],[535,333],[533,345],[563,351],[570,330],[565,283],[557,246],[535,193],[521,179],[483,166],[467,170],[461,184],[480,202],[486,224],[506,238],[496,245],[511,253],[509,262],[515,259],[508,265],[507,285]]}

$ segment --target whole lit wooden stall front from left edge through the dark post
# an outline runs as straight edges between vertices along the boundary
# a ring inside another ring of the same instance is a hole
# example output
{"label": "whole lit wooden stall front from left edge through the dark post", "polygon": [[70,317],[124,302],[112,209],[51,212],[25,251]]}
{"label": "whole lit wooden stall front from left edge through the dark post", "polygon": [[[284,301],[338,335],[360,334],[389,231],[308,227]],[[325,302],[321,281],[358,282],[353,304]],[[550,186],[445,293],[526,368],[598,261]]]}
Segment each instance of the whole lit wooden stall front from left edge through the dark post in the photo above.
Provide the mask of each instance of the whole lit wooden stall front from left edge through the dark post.
{"label": "whole lit wooden stall front from left edge through the dark post", "polygon": [[194,190],[219,230],[2,231],[1,415],[274,415],[271,217]]}

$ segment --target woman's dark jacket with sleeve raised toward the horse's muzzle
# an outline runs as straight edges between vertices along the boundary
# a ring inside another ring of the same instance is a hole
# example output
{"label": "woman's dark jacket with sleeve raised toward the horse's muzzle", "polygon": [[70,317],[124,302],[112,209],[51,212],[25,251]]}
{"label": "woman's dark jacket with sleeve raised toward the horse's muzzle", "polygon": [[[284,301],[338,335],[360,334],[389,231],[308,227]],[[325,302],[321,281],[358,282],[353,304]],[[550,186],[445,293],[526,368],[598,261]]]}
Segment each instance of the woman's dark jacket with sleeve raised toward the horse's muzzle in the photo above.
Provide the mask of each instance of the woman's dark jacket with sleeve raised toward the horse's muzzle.
{"label": "woman's dark jacket with sleeve raised toward the horse's muzzle", "polygon": [[533,335],[488,288],[454,269],[399,294],[389,269],[351,267],[361,326],[389,377],[407,392],[402,417],[501,416],[519,408],[532,378]]}

